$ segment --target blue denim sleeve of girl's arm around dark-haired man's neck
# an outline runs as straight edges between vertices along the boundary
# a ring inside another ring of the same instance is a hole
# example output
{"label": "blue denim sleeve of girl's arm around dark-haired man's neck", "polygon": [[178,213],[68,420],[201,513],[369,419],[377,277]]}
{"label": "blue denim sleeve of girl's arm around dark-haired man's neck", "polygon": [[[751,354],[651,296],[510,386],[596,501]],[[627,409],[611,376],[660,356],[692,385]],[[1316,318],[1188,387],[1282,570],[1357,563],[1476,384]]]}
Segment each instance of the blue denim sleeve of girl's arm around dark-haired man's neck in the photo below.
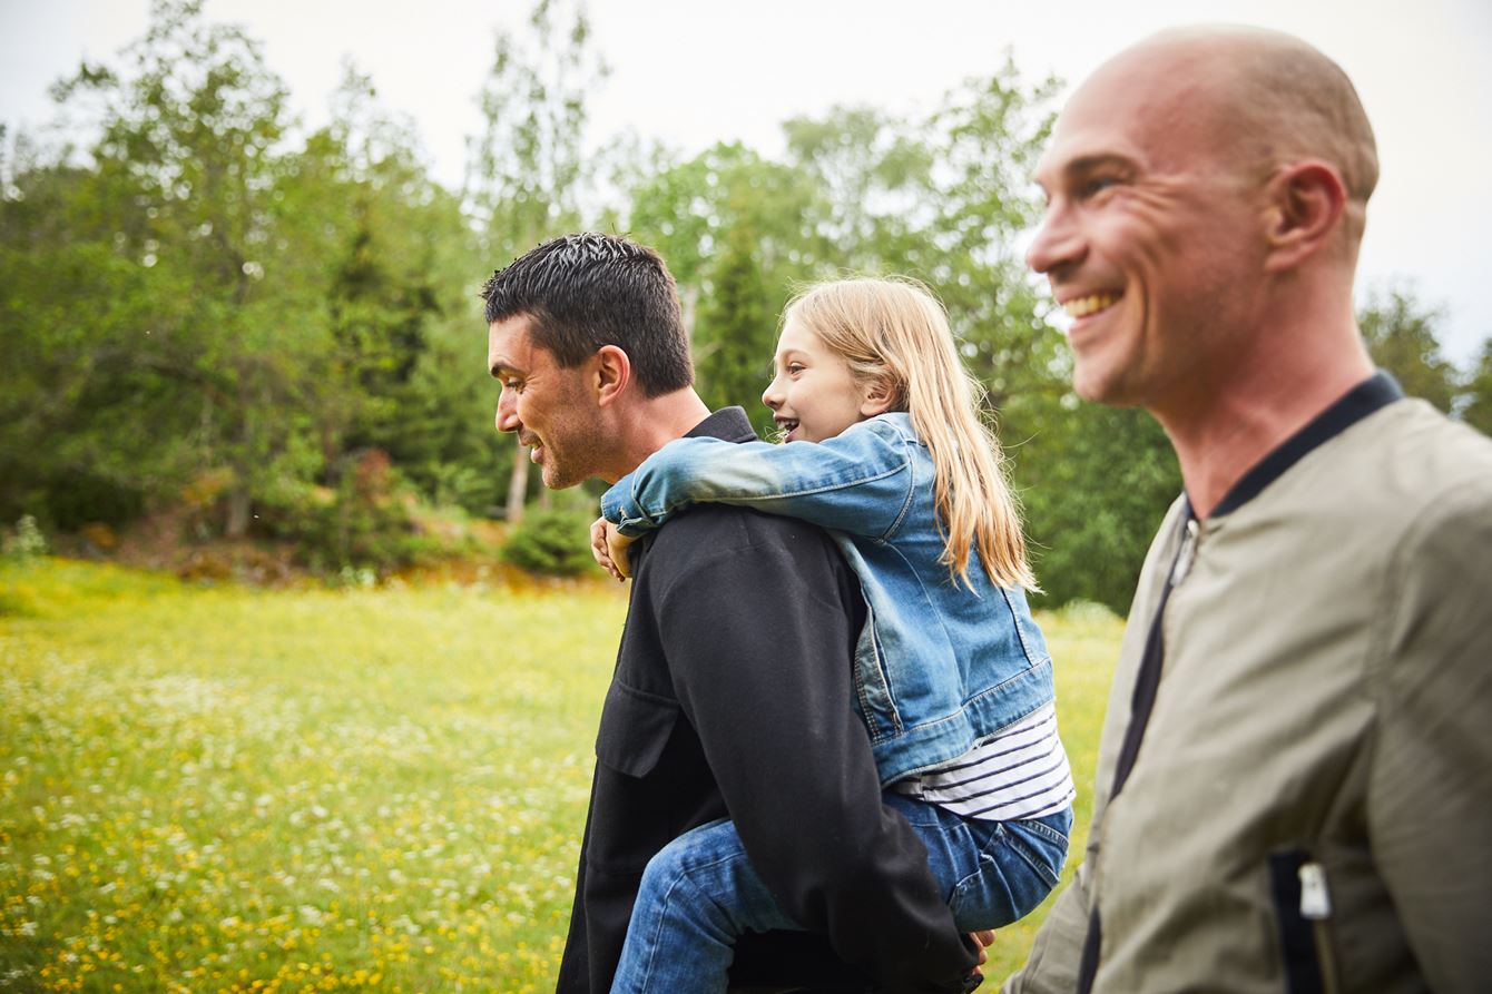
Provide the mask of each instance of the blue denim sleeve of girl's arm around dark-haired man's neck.
{"label": "blue denim sleeve of girl's arm around dark-haired man's neck", "polygon": [[915,445],[888,416],[818,443],[677,439],[606,491],[601,515],[639,536],[689,504],[718,501],[883,539],[912,500]]}

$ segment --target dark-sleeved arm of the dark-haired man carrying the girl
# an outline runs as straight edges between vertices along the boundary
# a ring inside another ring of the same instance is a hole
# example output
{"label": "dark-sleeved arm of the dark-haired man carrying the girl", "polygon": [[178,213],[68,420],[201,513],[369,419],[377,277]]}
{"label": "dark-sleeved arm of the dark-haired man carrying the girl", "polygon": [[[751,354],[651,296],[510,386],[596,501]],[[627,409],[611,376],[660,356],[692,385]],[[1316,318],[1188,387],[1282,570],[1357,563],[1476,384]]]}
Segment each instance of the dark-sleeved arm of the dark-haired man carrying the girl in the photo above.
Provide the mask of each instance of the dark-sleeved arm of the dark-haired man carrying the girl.
{"label": "dark-sleeved arm of the dark-haired man carrying the girl", "polygon": [[964,990],[976,954],[922,843],[882,806],[853,709],[853,575],[816,528],[725,509],[659,531],[648,567],[691,546],[661,597],[665,652],[756,872],[888,990]]}

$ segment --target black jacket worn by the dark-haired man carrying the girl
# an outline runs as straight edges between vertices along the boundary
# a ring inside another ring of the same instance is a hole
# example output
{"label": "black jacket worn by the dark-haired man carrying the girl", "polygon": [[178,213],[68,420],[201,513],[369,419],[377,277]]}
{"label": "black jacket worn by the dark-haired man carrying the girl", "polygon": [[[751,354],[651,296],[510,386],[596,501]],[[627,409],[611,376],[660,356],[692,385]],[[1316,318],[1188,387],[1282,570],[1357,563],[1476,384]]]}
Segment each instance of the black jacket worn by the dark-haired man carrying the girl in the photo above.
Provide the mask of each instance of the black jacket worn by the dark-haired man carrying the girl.
{"label": "black jacket worn by the dark-haired man carrying the girl", "polygon": [[[691,434],[755,437],[739,407]],[[922,843],[880,803],[853,709],[865,607],[834,543],[800,521],[709,504],[631,558],[560,994],[610,990],[648,860],[716,818],[736,821],[782,909],[819,933],[745,936],[734,984],[964,990],[974,954]]]}

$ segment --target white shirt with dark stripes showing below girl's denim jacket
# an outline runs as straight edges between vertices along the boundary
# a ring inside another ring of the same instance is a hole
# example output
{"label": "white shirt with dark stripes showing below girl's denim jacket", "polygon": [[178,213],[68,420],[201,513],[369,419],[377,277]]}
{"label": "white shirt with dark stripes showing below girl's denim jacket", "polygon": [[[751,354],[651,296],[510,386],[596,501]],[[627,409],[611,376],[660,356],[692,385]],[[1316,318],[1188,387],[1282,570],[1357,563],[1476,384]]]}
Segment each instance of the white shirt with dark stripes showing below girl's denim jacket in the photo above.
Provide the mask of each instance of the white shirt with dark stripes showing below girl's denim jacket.
{"label": "white shirt with dark stripes showing below girl's denim jacket", "polygon": [[1056,734],[1055,704],[1038,707],[952,763],[897,781],[891,790],[980,821],[1055,815],[1077,795]]}

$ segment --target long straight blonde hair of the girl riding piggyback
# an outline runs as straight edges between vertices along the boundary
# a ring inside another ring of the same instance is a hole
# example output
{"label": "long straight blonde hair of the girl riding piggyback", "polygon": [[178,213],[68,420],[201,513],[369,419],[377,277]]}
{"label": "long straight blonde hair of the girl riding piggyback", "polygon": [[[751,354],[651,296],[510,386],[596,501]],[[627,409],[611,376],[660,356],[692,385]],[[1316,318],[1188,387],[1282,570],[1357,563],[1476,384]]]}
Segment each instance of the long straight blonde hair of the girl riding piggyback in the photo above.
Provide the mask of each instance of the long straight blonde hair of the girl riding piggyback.
{"label": "long straight blonde hair of the girl riding piggyback", "polygon": [[949,576],[970,585],[968,557],[976,551],[995,584],[1040,590],[1026,563],[1006,457],[980,416],[985,388],[959,361],[947,313],[927,287],[906,278],[828,281],[794,297],[782,321],[818,336],[856,381],[885,384],[891,409],[912,415],[932,457],[938,561]]}

